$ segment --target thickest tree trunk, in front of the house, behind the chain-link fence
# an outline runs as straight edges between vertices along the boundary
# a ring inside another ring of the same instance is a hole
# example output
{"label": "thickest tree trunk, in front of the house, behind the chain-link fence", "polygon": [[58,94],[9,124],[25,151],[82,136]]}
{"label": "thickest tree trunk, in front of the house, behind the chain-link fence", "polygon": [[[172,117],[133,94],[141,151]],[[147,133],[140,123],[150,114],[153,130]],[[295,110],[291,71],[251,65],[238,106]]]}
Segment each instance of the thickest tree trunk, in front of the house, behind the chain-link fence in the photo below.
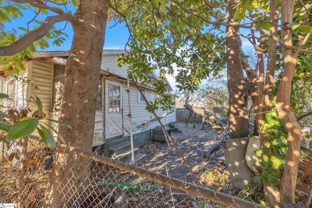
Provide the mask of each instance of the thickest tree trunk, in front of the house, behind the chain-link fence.
{"label": "thickest tree trunk, in front of the house, behind the chain-link fence", "polygon": [[[81,0],[71,22],[74,37],[66,62],[66,84],[60,120],[72,130],[60,127],[67,144],[91,151],[96,112],[98,78],[103,53],[109,1]],[[51,183],[45,207],[64,207],[84,186],[88,162],[75,154],[56,149]],[[79,164],[79,165],[75,165]]]}

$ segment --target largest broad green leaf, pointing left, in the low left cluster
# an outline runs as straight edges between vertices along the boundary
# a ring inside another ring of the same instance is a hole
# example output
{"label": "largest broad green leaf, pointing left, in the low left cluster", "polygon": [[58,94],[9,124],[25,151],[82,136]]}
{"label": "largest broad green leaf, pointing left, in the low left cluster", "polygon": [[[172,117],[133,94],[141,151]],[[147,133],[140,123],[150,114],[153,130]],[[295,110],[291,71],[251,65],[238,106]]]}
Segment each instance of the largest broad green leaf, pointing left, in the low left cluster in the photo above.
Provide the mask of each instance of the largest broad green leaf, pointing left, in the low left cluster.
{"label": "largest broad green leaf, pointing left, in the low left cluster", "polygon": [[13,141],[31,134],[36,130],[38,123],[39,120],[37,118],[20,120],[11,127],[10,131],[8,132],[8,135],[6,136],[6,140]]}

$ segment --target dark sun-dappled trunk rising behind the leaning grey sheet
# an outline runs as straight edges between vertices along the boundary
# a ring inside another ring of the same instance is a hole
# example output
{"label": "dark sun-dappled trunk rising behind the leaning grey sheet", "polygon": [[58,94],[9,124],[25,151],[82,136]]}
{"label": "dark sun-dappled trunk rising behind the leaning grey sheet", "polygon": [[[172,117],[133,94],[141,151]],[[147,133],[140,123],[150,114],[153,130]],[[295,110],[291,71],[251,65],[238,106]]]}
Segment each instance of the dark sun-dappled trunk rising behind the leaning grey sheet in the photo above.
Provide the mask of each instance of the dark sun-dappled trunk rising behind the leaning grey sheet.
{"label": "dark sun-dappled trunk rising behind the leaning grey sheet", "polygon": [[[226,22],[237,24],[233,19],[233,5],[237,0],[228,0],[231,6],[226,7]],[[241,41],[239,29],[226,27],[226,53],[228,67],[228,90],[229,90],[229,127],[231,139],[248,136],[247,115],[247,83],[243,76],[241,63]]]}

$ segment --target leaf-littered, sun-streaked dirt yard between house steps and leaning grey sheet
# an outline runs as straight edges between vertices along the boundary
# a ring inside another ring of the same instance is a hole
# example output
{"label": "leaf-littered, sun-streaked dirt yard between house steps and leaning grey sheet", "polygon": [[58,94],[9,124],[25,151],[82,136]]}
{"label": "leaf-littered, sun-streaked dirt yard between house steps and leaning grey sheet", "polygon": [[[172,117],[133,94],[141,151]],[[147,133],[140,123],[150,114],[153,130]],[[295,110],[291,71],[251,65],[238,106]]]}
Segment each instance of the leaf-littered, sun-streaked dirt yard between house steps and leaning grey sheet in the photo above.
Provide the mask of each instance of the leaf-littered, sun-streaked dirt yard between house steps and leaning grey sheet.
{"label": "leaf-littered, sun-streaked dirt yard between house steps and leaning grey sheet", "polygon": [[[209,159],[203,158],[205,147],[223,140],[225,135],[222,131],[209,125],[205,125],[204,130],[201,130],[201,124],[176,123],[175,127],[179,132],[171,132],[171,137],[200,182],[214,190],[229,193],[229,173],[224,161],[223,148],[213,151]],[[147,160],[140,165],[142,168],[196,184],[190,170],[170,141],[151,141],[140,148],[140,151],[147,155]],[[216,181],[218,183],[214,183]]]}

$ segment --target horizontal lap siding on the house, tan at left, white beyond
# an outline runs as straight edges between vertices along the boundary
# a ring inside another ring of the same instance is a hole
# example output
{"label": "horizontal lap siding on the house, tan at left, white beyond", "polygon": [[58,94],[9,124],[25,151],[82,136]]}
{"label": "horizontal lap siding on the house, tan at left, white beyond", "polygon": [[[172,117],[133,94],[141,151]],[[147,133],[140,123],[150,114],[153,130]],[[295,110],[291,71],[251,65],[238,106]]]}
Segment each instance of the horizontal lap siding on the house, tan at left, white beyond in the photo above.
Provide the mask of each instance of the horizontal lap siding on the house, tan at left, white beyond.
{"label": "horizontal lap siding on the house, tan at left, white beyond", "polygon": [[[109,72],[112,76],[106,76],[104,74],[104,85],[107,80],[116,81],[122,83],[122,119],[123,119],[123,136],[130,136],[130,121],[129,121],[129,104],[132,113],[132,132],[134,135],[134,139],[138,142],[137,145],[141,145],[146,141],[150,141],[151,133],[150,130],[159,126],[158,121],[155,121],[149,125],[143,126],[137,129],[138,125],[146,123],[151,119],[154,119],[155,116],[153,113],[148,113],[145,110],[146,103],[138,102],[138,91],[137,87],[134,84],[130,86],[130,100],[128,100],[127,93],[127,67],[118,67],[116,66],[116,54],[109,54],[102,57],[101,62],[101,70]],[[58,120],[59,112],[53,112],[52,110],[52,100],[53,100],[53,76],[54,76],[54,62],[48,59],[45,60],[30,60],[27,62],[27,75],[32,82],[28,84],[27,88],[27,98],[30,96],[35,97],[37,95],[43,105],[43,111],[47,115],[47,117],[51,117],[53,119]],[[103,73],[102,73],[103,74]],[[34,86],[37,86],[39,90],[35,90]],[[141,86],[146,91],[146,98],[148,101],[154,101],[156,98],[156,91],[151,90],[150,87]],[[103,93],[106,92],[107,89],[103,90]],[[22,90],[23,91],[23,90]],[[22,92],[21,91],[21,92]],[[105,102],[105,95],[103,96],[103,101]],[[30,109],[32,112],[37,110],[36,105],[31,104]],[[156,110],[157,116],[163,115],[166,111],[162,111],[161,109]],[[175,112],[167,115],[165,118],[162,118],[161,121],[164,125],[168,125],[169,123],[176,121]],[[105,132],[105,111],[97,111],[95,118],[95,134],[93,139],[93,147],[104,144],[104,132]],[[53,126],[53,123],[51,123]],[[57,129],[57,127],[55,127]]]}

